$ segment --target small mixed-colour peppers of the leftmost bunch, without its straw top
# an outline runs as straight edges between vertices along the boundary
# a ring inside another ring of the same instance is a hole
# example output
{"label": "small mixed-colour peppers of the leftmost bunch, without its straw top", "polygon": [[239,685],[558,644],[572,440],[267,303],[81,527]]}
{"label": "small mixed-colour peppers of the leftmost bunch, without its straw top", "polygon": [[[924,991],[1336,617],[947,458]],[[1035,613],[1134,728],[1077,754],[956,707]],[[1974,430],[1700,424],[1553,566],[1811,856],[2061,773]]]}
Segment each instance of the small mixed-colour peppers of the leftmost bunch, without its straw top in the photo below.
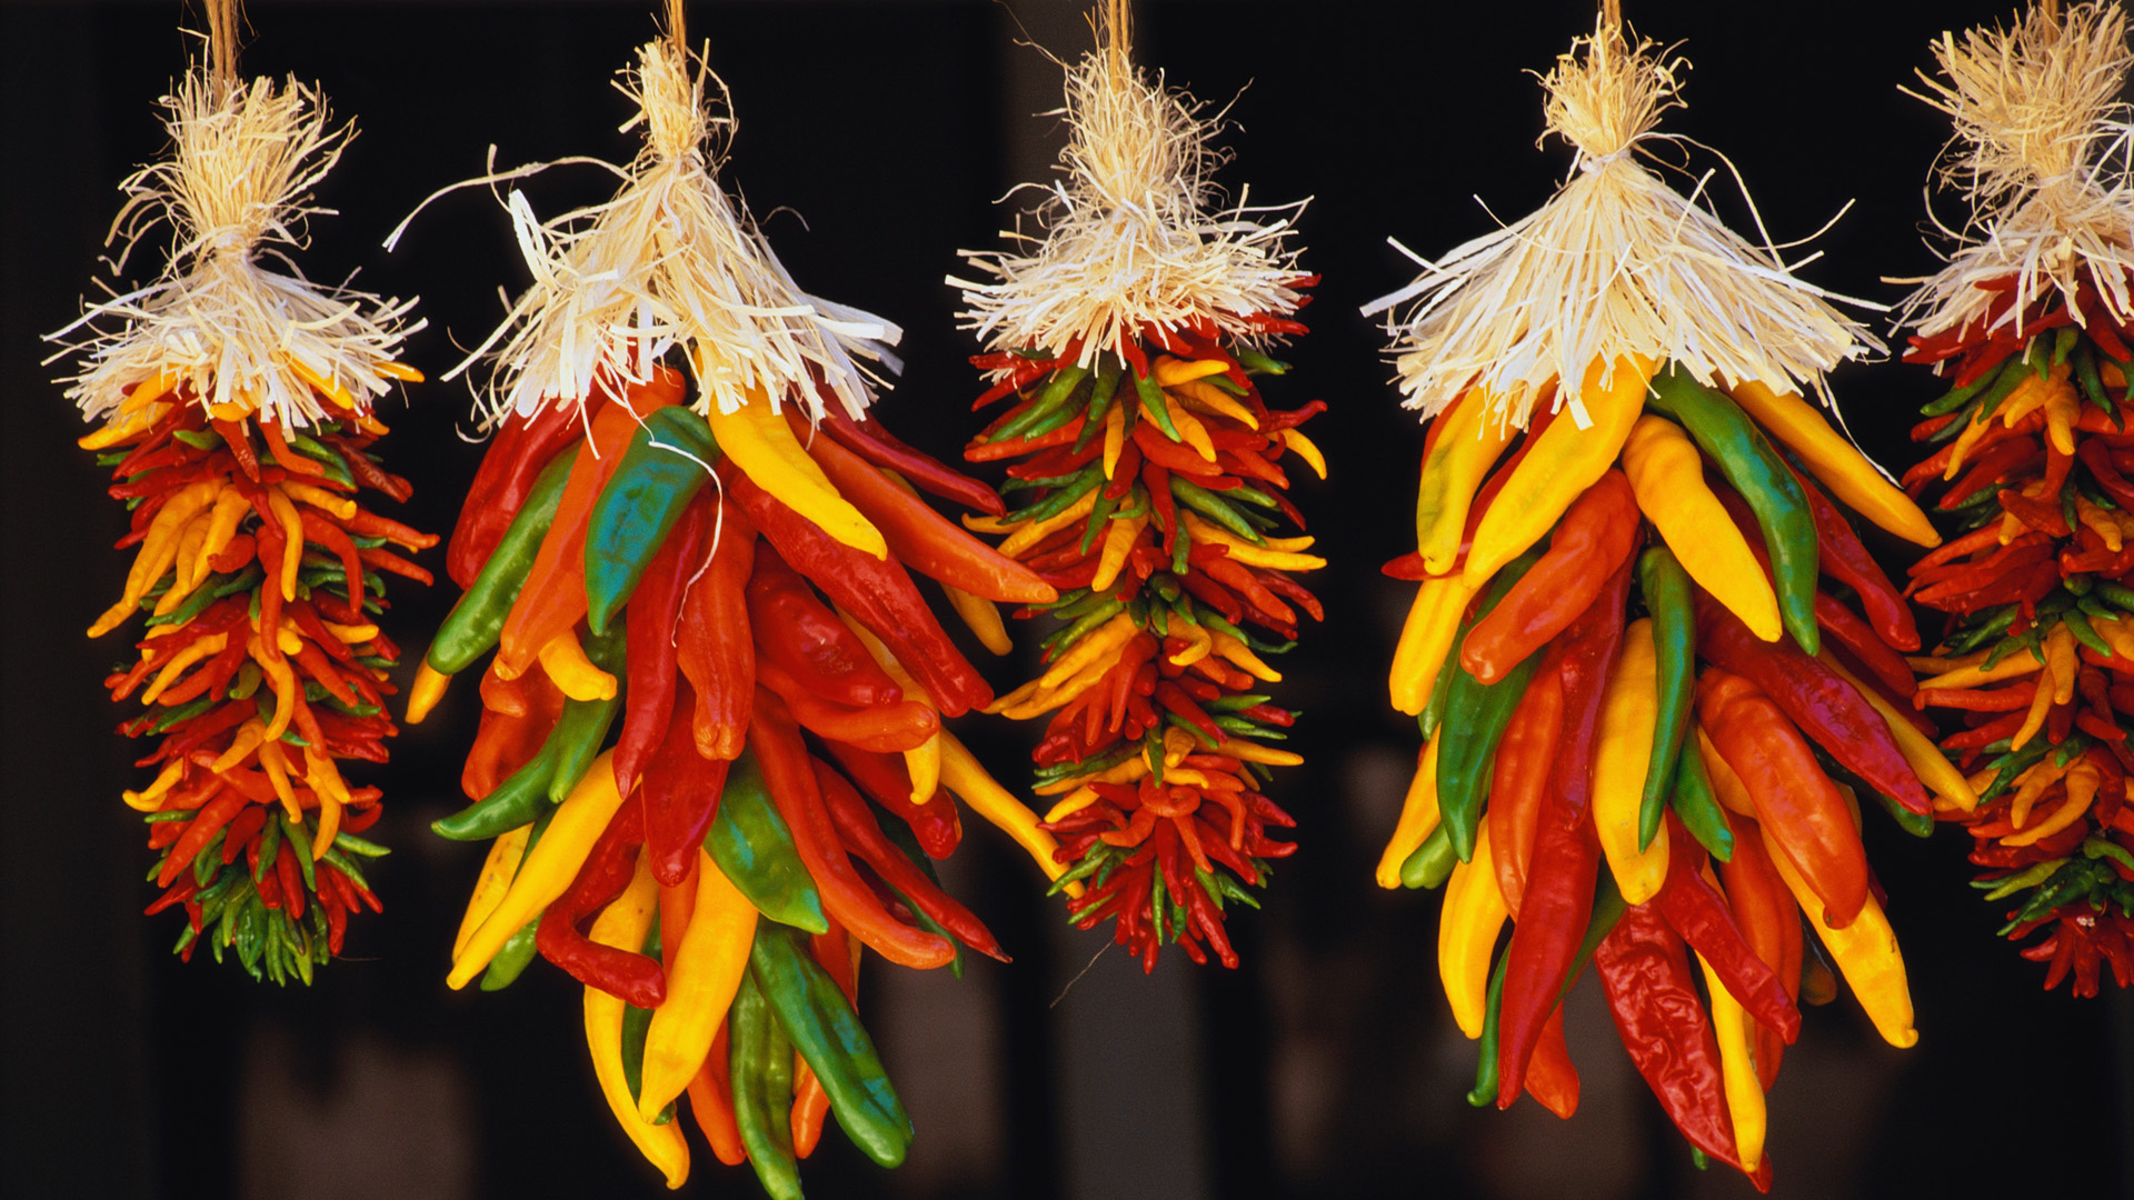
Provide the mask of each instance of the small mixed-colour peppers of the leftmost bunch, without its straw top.
{"label": "small mixed-colour peppers of the leftmost bunch, without its straw top", "polygon": [[81,438],[132,508],[117,547],[141,547],[90,636],[147,615],[139,660],[105,681],[147,705],[120,732],[160,739],[137,762],[156,779],[126,792],[160,852],[147,912],[184,905],[184,959],[205,937],[216,961],[233,948],[277,984],[312,982],[348,916],[380,910],[363,860],[384,848],[356,837],[380,790],[352,788],[341,760],[384,762],[397,732],[384,698],[399,649],[376,623],[384,577],[431,581],[388,547],[437,544],[356,504],[361,489],[395,502],[412,489],[369,453],[384,425],[335,382],[305,380],[346,416],[284,429],[239,401],[203,404],[166,369]]}

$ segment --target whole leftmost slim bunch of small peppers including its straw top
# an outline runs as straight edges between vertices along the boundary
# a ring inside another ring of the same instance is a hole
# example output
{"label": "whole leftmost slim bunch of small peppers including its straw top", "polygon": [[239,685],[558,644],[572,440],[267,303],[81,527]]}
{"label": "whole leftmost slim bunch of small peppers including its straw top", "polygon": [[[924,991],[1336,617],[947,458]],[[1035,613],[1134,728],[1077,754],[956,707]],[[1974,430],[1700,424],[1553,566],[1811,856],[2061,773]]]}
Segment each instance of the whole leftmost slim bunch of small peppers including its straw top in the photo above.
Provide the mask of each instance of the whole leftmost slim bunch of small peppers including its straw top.
{"label": "whole leftmost slim bunch of small peppers including its straw top", "polygon": [[[241,85],[203,68],[171,100],[175,154],[126,181],[120,231],[171,220],[177,250],[156,284],[92,305],[68,395],[102,427],[81,446],[109,465],[132,510],[117,547],[139,547],[120,600],[90,626],[143,613],[139,658],[105,681],[145,711],[120,726],[154,737],[137,767],[156,779],[126,803],[158,852],[149,914],[184,907],[177,952],[205,937],[252,978],[312,982],[341,952],[348,916],[380,910],[356,837],[376,786],[344,760],[384,762],[384,698],[399,649],[378,628],[384,577],[429,583],[395,553],[437,542],[359,502],[408,500],[371,444],[405,305],[318,288],[265,269],[267,241],[294,241],[309,188],[348,130],[288,81]],[[280,254],[277,254],[280,256]],[[369,307],[369,312],[365,312]]]}

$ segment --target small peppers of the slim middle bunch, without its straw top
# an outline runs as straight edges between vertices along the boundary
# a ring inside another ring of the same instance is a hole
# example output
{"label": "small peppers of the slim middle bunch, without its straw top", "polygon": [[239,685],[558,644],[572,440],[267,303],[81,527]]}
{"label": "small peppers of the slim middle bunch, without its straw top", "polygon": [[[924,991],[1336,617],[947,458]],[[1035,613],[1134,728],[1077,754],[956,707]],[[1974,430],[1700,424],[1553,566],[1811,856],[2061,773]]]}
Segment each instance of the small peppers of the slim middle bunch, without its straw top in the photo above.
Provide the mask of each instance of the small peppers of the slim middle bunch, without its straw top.
{"label": "small peppers of the slim middle bunch, without its straw top", "polygon": [[[1272,314],[1253,327],[1304,333]],[[1018,404],[965,457],[1022,459],[1001,491],[1026,493],[1026,504],[965,523],[1003,534],[1001,553],[1058,589],[1018,617],[1061,621],[1044,641],[1044,675],[992,711],[1052,713],[1033,758],[1037,794],[1061,796],[1044,822],[1065,867],[1052,888],[1088,888],[1069,901],[1076,922],[1116,920],[1116,942],[1144,969],[1163,942],[1195,963],[1212,950],[1236,967],[1225,903],[1259,907],[1246,888],[1265,884],[1268,858],[1295,848],[1268,837],[1270,824],[1295,824],[1261,792],[1268,769],[1302,758],[1265,745],[1295,713],[1259,692],[1280,681],[1261,656],[1295,645],[1300,611],[1323,617],[1289,572],[1325,559],[1304,553],[1310,536],[1272,530],[1283,519],[1304,527],[1283,495],[1285,451],[1325,478],[1325,459],[1297,429],[1325,401],[1268,408],[1253,380],[1287,367],[1223,346],[1212,325],[1150,325],[1093,365],[1080,357],[1073,344],[1056,357],[973,359],[994,376],[973,408]]]}

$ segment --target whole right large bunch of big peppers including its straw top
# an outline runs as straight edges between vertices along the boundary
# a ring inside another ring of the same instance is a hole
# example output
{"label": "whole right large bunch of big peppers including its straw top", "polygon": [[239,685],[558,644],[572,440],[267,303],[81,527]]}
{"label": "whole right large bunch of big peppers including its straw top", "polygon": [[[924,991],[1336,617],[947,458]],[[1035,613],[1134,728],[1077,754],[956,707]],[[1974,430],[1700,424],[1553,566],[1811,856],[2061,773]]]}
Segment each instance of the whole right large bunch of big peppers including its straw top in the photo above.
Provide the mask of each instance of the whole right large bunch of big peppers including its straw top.
{"label": "whole right large bunch of big peppers including its straw top", "polygon": [[1874,342],[1630,154],[1677,66],[1581,38],[1545,81],[1581,171],[1374,305],[1421,297],[1398,363],[1434,414],[1417,553],[1387,568],[1421,583],[1391,698],[1426,745],[1376,880],[1445,886],[1472,1104],[1577,1108],[1562,999],[1590,963],[1699,1162],[1769,1187],[1803,916],[1882,1036],[1916,1040],[1854,788],[1921,835],[1929,790],[1970,796],[1833,495],[1933,530],[1797,395]]}

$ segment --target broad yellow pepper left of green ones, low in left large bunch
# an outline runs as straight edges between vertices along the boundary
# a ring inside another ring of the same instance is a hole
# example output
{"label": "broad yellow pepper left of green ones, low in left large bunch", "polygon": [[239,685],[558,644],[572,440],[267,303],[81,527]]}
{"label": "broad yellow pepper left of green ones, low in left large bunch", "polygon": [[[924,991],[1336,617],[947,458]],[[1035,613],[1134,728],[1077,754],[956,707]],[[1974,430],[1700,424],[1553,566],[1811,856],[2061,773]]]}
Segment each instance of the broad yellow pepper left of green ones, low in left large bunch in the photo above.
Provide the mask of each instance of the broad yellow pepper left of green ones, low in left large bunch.
{"label": "broad yellow pepper left of green ones, low in left large bunch", "polygon": [[726,1021],[755,942],[755,905],[698,850],[696,905],[666,969],[666,1001],[644,1031],[638,1117],[651,1121],[689,1087]]}

